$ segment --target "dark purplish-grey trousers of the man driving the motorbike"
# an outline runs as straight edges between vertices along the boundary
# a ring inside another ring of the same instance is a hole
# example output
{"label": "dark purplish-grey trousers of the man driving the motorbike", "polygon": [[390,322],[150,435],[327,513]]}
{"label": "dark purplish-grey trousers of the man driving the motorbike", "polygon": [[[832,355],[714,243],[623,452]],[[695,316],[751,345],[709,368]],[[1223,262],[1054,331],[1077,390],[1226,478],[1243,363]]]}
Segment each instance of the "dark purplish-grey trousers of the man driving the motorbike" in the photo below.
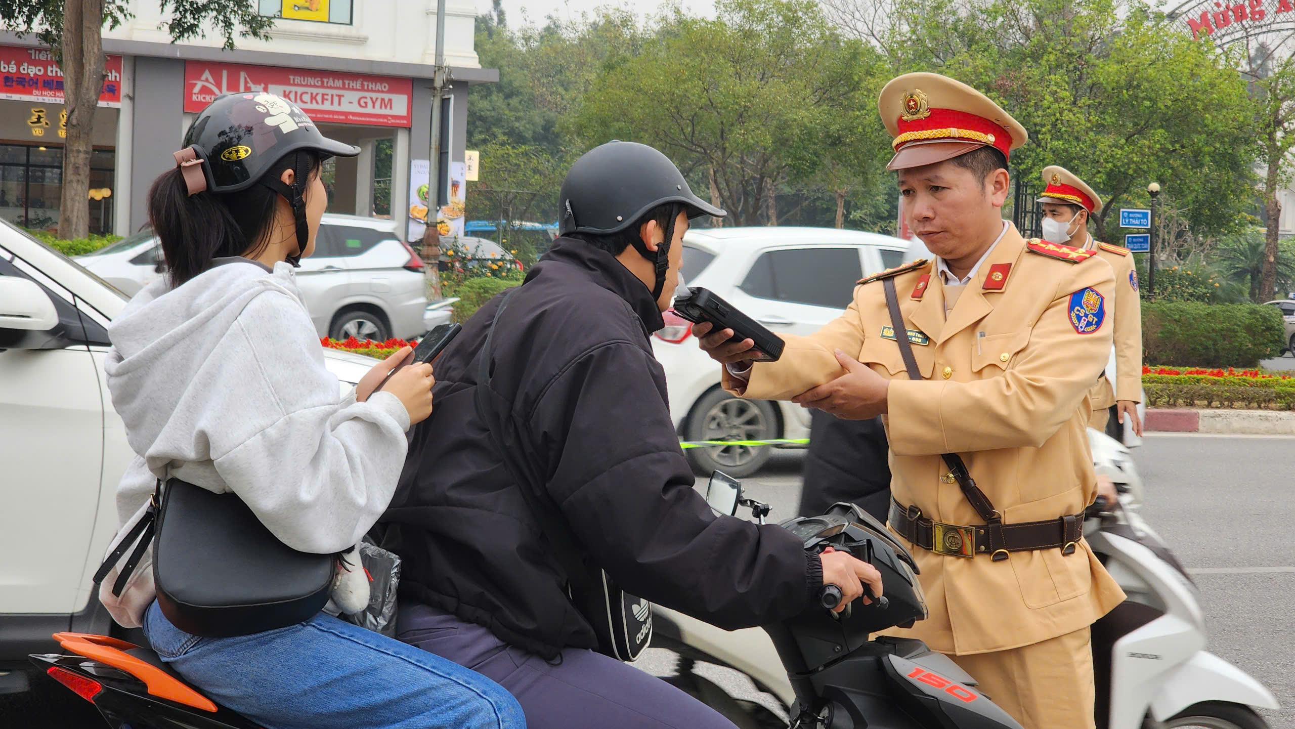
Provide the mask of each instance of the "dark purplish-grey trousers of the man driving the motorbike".
{"label": "dark purplish-grey trousers of the man driving the motorbike", "polygon": [[528,729],[736,729],[693,697],[614,658],[566,649],[548,662],[426,605],[400,603],[396,637],[508,689]]}

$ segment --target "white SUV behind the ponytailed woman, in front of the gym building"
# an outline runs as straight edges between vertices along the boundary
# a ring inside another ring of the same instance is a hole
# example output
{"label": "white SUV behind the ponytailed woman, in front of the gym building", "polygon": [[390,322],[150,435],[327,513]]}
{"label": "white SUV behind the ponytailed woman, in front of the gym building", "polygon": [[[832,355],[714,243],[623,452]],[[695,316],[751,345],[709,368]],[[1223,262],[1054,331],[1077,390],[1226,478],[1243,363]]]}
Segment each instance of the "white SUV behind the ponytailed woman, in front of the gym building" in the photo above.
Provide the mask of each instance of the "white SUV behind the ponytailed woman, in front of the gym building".
{"label": "white SUV behind the ponytailed woman, in front of the gym building", "polygon": [[[149,230],[76,260],[131,297],[163,276],[162,249]],[[297,284],[320,337],[382,342],[427,330],[422,259],[394,220],[324,215],[315,255],[302,260]]]}

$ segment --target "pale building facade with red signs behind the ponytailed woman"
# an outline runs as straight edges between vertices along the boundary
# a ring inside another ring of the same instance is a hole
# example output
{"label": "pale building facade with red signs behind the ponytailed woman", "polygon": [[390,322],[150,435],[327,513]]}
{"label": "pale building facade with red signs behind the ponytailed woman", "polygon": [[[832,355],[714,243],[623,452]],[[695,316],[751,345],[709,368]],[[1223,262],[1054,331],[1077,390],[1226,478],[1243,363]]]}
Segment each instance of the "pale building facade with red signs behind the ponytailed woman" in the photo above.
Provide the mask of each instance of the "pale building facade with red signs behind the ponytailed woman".
{"label": "pale building facade with red signs behind the ponytailed woman", "polygon": [[[326,164],[330,212],[398,218],[401,230],[421,234],[417,220],[408,223],[411,210],[426,211],[417,202],[431,150],[436,1],[258,1],[262,14],[277,17],[271,39],[236,39],[236,50],[215,35],[172,44],[152,0],[133,0],[133,18],[105,28],[91,230],[126,236],[144,225],[145,193],[175,164],[171,153],[197,113],[220,93],[255,89],[297,104],[325,135],[363,150]],[[473,50],[475,16],[471,0],[448,0],[442,184],[460,197],[465,181],[449,176],[465,159],[467,89],[499,79]],[[34,36],[0,32],[0,218],[28,228],[58,224],[61,79]]]}

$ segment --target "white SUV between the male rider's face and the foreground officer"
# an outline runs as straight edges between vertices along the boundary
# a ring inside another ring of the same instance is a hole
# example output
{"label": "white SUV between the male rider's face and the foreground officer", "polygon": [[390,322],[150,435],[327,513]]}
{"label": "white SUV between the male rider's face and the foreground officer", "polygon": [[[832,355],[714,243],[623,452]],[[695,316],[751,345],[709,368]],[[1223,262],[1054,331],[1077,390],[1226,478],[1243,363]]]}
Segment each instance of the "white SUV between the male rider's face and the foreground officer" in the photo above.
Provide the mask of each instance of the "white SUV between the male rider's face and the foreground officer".
{"label": "white SUV between the male rider's face and the foreground officer", "polygon": [[[776,334],[813,334],[840,316],[866,275],[899,265],[906,241],[835,228],[704,228],[684,236],[684,281],[702,286]],[[653,339],[666,369],[670,410],[685,440],[809,436],[808,410],[791,403],[741,400],[720,388],[720,368],[673,313]],[[702,473],[754,474],[769,447],[689,448]]]}

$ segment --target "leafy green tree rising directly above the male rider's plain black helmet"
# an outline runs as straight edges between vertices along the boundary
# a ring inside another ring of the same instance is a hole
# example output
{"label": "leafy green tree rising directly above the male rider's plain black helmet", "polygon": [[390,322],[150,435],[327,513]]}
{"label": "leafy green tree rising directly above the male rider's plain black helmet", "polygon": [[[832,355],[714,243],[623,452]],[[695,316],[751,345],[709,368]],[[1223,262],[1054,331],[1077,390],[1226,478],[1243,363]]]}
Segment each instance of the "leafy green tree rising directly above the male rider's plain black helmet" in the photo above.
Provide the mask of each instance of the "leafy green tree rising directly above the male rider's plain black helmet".
{"label": "leafy green tree rising directly above the male rider's plain black helmet", "polygon": [[721,0],[717,13],[675,14],[637,53],[610,56],[572,117],[580,139],[662,149],[738,225],[777,224],[778,185],[828,161],[834,192],[868,180],[855,142],[881,126],[869,50],[807,0]]}

